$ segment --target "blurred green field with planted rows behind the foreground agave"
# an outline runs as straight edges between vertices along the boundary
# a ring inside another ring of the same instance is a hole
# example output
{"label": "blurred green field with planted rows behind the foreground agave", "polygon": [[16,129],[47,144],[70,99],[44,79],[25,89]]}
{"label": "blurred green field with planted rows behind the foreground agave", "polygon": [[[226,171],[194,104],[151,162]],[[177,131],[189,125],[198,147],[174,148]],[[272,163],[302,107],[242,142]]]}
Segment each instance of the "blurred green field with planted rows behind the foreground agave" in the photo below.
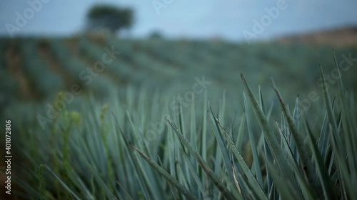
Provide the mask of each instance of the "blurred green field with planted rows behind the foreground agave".
{"label": "blurred green field with planted rows behind the foreground agave", "polygon": [[[114,59],[109,56],[112,61],[96,72],[95,63],[109,49],[117,55]],[[331,86],[336,85],[332,77],[333,51],[339,62],[352,58],[343,78],[348,90],[356,90],[353,55],[357,48],[349,43],[334,46],[285,39],[248,45],[220,40],[124,39],[98,33],[71,38],[1,38],[1,110],[11,116],[17,115],[11,105],[41,107],[52,102],[59,91],[71,93],[73,85],[83,90],[81,95],[74,95],[75,100],[89,93],[103,99],[113,90],[124,98],[129,86],[135,90],[161,90],[169,98],[176,98],[192,90],[195,78],[203,77],[211,83],[207,89],[213,101],[225,91],[229,105],[237,107],[243,89],[240,73],[255,88],[260,85],[268,91],[264,95],[269,100],[276,100],[271,93],[273,77],[288,102],[293,103],[297,95],[308,98],[311,91],[320,93],[319,64],[331,76]]]}

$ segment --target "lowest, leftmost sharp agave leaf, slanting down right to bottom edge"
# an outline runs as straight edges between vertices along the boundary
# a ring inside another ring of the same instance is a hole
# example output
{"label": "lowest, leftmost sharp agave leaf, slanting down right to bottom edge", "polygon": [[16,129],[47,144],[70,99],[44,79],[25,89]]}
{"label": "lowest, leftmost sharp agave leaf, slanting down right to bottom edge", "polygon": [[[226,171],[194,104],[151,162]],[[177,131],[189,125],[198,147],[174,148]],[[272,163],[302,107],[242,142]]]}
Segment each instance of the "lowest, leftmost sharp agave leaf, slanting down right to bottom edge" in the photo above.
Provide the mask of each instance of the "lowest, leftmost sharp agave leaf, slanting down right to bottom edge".
{"label": "lowest, leftmost sharp agave leaf, slanting down right to bottom edge", "polygon": [[143,152],[141,152],[138,148],[134,147],[134,145],[130,145],[131,148],[133,148],[136,152],[139,153],[141,157],[143,157],[146,162],[148,162],[151,167],[154,167],[156,172],[159,172],[162,177],[166,179],[166,181],[169,181],[170,184],[173,184],[178,191],[181,192],[184,196],[186,196],[187,199],[197,199],[196,196],[194,196],[191,191],[188,191],[182,184],[180,184],[178,181],[176,181],[169,173],[167,173],[162,167],[159,166],[159,164],[156,164],[156,162],[152,161],[151,158],[147,157]]}

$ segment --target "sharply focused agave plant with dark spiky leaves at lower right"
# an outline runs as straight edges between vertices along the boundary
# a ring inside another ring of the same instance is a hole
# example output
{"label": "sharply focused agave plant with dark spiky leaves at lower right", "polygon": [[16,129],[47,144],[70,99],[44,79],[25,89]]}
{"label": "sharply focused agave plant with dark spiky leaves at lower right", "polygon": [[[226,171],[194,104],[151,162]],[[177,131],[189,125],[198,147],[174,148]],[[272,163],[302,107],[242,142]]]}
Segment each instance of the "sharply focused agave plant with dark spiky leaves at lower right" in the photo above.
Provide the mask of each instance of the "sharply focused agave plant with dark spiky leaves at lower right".
{"label": "sharply focused agave plant with dark spiky leaves at lower right", "polygon": [[[248,110],[247,101],[251,102],[263,133],[259,138],[263,145],[258,145],[255,142],[247,117],[247,130],[253,156],[253,165],[248,167],[238,151],[237,145],[232,140],[234,133],[228,134],[211,110],[211,118],[217,127],[216,144],[221,152],[215,157],[215,161],[223,163],[222,168],[226,175],[223,178],[218,178],[213,168],[205,162],[193,144],[188,142],[189,140],[183,135],[181,129],[169,120],[168,122],[181,140],[183,148],[187,149],[185,154],[193,155],[224,199],[353,199],[353,196],[357,195],[356,190],[353,189],[353,185],[357,181],[356,119],[350,112],[351,107],[348,107],[348,99],[343,90],[337,61],[336,70],[339,74],[339,94],[337,100],[331,102],[321,69],[326,116],[319,132],[312,132],[307,120],[303,122],[302,129],[298,128],[301,121],[298,99],[293,115],[291,115],[273,81],[273,88],[281,103],[283,116],[281,124],[276,122],[272,127],[263,111],[265,109],[261,92],[257,100],[246,79],[241,75],[248,96],[247,100],[245,92],[243,92],[244,104]],[[336,110],[337,116],[335,115]],[[187,199],[202,197],[197,196],[184,184],[170,176],[164,167],[160,167],[133,144],[129,145]],[[267,174],[264,177],[259,158],[263,159],[265,164]],[[191,174],[194,173],[198,174],[198,171],[191,171]],[[230,183],[234,183],[235,187]],[[205,183],[197,179],[196,184],[203,186]],[[201,191],[201,195],[204,195],[203,191]]]}

